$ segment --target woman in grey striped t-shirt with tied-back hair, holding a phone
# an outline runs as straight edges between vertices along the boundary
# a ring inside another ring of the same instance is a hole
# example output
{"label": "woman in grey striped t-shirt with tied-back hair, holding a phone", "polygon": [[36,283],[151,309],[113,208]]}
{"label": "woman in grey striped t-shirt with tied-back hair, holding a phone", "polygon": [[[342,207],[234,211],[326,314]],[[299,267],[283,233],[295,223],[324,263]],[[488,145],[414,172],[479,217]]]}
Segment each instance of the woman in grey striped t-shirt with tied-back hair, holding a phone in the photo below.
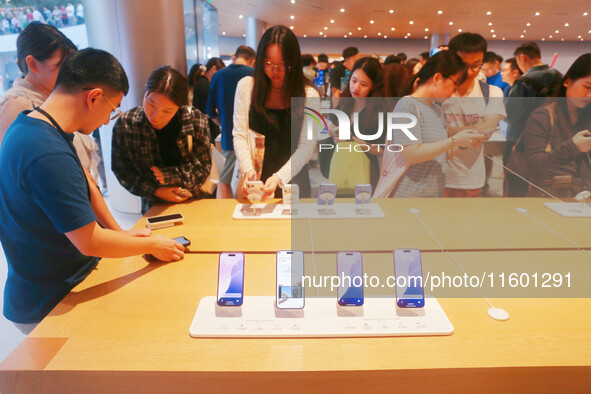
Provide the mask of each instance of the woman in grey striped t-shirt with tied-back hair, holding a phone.
{"label": "woman in grey striped t-shirt with tied-back hair, holding a phone", "polygon": [[[431,56],[419,72],[407,81],[406,93],[393,112],[413,114],[417,124],[409,131],[411,140],[403,131],[395,129],[393,143],[402,145],[402,152],[384,151],[382,174],[397,174],[391,163],[408,167],[400,179],[383,176],[376,189],[393,190],[394,197],[443,197],[446,154],[457,154],[459,148],[478,144],[480,134],[462,130],[448,136],[441,114],[440,102],[450,97],[466,79],[462,58],[450,51]],[[386,142],[390,145],[390,141]],[[401,156],[396,156],[401,155]],[[382,182],[390,186],[383,186]],[[398,183],[398,184],[397,184]],[[387,196],[382,196],[387,197]]]}

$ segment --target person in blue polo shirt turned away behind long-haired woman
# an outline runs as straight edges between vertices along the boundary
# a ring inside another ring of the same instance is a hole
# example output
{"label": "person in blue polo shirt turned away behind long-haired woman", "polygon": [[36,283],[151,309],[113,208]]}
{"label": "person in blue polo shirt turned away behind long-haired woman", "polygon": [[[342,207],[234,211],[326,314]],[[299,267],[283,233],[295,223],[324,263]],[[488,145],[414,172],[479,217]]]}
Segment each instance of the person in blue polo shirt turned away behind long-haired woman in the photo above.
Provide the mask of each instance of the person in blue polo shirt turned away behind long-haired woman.
{"label": "person in blue polo shirt turned away behind long-haired woman", "polygon": [[226,164],[220,175],[217,198],[232,198],[232,173],[236,165],[232,129],[234,128],[234,96],[238,81],[246,76],[252,76],[252,66],[256,58],[255,51],[246,45],[241,45],[234,54],[234,63],[216,72],[209,84],[207,99],[207,115],[221,124],[222,153]]}

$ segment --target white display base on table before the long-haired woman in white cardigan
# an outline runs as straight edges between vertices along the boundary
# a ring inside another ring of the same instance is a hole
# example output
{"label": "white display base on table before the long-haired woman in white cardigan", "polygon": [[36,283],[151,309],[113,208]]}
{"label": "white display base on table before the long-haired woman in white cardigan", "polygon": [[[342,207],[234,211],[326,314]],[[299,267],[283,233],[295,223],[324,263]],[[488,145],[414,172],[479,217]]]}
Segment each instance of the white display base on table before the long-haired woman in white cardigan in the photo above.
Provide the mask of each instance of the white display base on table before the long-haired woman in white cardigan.
{"label": "white display base on table before the long-haired woman in white cardigan", "polygon": [[[256,209],[255,209],[256,208]],[[234,219],[381,219],[384,211],[378,204],[238,204]]]}

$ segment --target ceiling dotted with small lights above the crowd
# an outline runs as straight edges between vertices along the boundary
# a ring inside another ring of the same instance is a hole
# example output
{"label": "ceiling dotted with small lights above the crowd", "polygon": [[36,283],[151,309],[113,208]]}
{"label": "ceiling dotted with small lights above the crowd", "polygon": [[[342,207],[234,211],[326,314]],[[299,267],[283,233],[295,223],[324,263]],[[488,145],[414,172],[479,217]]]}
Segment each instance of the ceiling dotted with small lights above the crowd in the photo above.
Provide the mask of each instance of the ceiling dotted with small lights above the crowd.
{"label": "ceiling dotted with small lights above the crowd", "polygon": [[[210,3],[218,10],[219,34],[234,37],[245,33],[246,17],[252,16],[268,26],[293,26],[298,37],[400,39],[410,33],[408,37],[416,39],[437,33],[454,36],[462,29],[480,33],[487,40],[591,41],[588,0],[210,0]],[[536,12],[540,15],[536,16]]]}

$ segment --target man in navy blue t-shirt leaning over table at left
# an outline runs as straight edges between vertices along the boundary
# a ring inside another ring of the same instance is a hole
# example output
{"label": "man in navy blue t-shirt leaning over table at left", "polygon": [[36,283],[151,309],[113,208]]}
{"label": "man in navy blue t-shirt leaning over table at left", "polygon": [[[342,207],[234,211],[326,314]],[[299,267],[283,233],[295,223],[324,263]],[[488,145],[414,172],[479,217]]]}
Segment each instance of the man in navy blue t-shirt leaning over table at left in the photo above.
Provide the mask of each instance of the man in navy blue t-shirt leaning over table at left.
{"label": "man in navy blue t-shirt leaning over table at left", "polygon": [[180,244],[150,237],[147,229],[130,234],[104,228],[75,153],[73,133],[88,135],[108,124],[111,103],[118,106],[128,89],[113,55],[93,48],[74,52],[47,100],[19,114],[6,132],[0,149],[0,241],[8,263],[3,312],[23,333],[101,257],[184,256]]}

